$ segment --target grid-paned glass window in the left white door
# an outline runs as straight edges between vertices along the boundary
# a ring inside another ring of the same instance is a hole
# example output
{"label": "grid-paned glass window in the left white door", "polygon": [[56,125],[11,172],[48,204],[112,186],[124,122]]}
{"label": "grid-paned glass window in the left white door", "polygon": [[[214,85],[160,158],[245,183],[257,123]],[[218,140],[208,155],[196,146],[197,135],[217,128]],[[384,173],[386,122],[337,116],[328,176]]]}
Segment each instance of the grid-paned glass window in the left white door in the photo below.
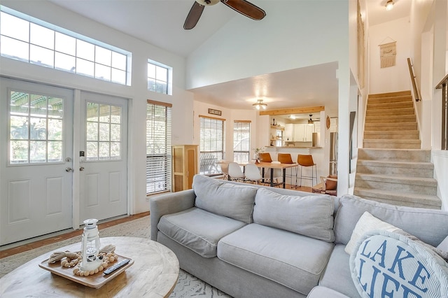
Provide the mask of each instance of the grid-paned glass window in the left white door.
{"label": "grid-paned glass window in the left white door", "polygon": [[64,99],[10,91],[9,164],[62,162]]}

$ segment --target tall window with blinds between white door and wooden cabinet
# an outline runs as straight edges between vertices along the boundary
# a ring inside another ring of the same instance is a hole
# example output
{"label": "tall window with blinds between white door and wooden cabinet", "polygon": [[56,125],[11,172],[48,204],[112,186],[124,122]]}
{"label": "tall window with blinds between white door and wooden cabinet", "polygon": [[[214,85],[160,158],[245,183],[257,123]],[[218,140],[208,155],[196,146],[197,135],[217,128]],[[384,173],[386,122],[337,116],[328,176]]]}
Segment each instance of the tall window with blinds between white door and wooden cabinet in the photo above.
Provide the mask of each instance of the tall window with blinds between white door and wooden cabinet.
{"label": "tall window with blinds between white door and wooden cabinet", "polygon": [[146,194],[171,190],[172,105],[146,104]]}

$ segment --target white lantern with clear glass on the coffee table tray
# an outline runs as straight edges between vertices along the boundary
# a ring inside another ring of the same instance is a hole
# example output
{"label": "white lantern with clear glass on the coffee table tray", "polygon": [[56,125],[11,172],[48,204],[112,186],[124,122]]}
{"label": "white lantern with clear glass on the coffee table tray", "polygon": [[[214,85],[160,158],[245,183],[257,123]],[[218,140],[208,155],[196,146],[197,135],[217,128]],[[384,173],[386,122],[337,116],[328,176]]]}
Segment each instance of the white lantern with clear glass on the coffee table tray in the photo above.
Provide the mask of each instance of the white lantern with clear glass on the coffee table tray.
{"label": "white lantern with clear glass on the coffee table tray", "polygon": [[84,232],[81,240],[81,253],[83,261],[80,264],[82,271],[94,271],[101,264],[102,260],[99,254],[99,232],[97,227],[98,220],[84,220]]}

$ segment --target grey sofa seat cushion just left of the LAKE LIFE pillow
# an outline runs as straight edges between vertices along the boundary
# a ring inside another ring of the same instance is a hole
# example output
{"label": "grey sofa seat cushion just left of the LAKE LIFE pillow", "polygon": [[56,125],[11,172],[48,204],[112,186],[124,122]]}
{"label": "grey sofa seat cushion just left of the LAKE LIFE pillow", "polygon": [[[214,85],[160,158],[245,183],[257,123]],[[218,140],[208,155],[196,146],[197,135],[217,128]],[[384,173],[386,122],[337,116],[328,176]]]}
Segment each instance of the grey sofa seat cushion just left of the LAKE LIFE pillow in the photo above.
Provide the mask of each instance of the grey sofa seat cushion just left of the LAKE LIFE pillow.
{"label": "grey sofa seat cushion just left of the LAKE LIFE pillow", "polygon": [[330,255],[330,260],[328,260],[327,267],[321,276],[319,285],[341,292],[351,298],[360,297],[355,284],[351,280],[350,255],[347,255],[344,248],[344,245],[336,244]]}

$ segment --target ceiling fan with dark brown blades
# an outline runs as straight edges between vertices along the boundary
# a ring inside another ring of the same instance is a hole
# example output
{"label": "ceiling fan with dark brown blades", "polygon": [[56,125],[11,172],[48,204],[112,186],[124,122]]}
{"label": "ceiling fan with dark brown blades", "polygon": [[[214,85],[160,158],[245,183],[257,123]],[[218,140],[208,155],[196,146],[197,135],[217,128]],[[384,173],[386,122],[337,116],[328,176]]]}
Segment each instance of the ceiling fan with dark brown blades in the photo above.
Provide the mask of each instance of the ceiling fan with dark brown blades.
{"label": "ceiling fan with dark brown blades", "polygon": [[[204,7],[215,5],[218,2],[220,2],[220,0],[195,0],[195,3],[193,3],[193,6],[190,9],[190,13],[187,15],[185,23],[183,24],[183,29],[193,29],[196,26],[197,21],[199,21]],[[250,17],[252,20],[261,20],[266,15],[265,10],[262,10],[246,0],[221,0],[221,2],[233,10],[236,10],[238,13],[241,13],[241,15]]]}

